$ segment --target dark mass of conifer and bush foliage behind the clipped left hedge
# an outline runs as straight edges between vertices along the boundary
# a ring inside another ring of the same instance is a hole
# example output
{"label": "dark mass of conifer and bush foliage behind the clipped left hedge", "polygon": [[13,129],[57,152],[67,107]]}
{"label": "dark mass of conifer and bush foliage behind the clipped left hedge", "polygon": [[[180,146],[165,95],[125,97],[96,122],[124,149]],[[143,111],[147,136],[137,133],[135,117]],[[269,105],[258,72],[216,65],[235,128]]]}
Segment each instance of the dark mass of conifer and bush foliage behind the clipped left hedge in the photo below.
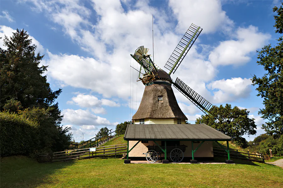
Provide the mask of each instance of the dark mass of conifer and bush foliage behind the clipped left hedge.
{"label": "dark mass of conifer and bush foliage behind the clipped left hedge", "polygon": [[[38,132],[33,136],[39,136],[41,150],[66,149],[72,134],[60,126],[63,116],[54,103],[62,90],[52,91],[43,76],[47,71],[47,66],[40,65],[44,55],[35,54],[36,45],[24,29],[5,36],[3,44],[7,50],[0,48],[0,110],[37,122]],[[9,139],[16,139],[13,136]]]}

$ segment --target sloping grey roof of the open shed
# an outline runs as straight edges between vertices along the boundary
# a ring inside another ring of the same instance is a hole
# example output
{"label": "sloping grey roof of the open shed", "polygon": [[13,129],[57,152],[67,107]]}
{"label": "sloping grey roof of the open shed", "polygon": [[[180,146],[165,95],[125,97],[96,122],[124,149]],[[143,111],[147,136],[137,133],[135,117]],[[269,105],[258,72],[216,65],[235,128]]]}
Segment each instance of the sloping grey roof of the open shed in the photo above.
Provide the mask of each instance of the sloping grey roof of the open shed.
{"label": "sloping grey roof of the open shed", "polygon": [[124,140],[231,140],[206,124],[128,124]]}

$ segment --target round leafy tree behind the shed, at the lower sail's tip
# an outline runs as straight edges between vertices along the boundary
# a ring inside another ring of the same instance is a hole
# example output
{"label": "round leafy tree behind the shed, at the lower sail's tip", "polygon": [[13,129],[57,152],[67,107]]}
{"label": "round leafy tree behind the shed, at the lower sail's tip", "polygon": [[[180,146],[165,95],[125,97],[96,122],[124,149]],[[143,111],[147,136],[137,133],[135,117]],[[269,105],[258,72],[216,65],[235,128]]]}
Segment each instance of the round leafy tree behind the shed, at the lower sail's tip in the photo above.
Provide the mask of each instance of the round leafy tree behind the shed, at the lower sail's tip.
{"label": "round leafy tree behind the shed, at the lower sail's tip", "polygon": [[247,109],[231,108],[230,104],[225,107],[214,106],[209,115],[202,115],[197,118],[196,124],[207,124],[208,126],[219,130],[220,132],[230,136],[236,144],[243,146],[246,141],[241,136],[244,134],[256,134],[256,125],[253,118],[249,118]]}

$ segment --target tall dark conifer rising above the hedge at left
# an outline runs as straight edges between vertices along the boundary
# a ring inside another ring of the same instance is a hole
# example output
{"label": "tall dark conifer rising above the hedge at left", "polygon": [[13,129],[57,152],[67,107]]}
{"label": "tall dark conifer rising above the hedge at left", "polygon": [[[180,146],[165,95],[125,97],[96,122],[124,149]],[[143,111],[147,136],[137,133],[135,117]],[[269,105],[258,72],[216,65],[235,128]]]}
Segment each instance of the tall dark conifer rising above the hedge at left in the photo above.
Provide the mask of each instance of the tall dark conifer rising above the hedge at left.
{"label": "tall dark conifer rising above the hedge at left", "polygon": [[39,67],[44,55],[35,55],[36,45],[28,37],[24,29],[17,29],[10,39],[7,36],[3,39],[7,50],[1,49],[1,111],[15,101],[23,108],[47,108],[62,92],[52,91],[47,77],[42,76],[47,71],[47,66]]}

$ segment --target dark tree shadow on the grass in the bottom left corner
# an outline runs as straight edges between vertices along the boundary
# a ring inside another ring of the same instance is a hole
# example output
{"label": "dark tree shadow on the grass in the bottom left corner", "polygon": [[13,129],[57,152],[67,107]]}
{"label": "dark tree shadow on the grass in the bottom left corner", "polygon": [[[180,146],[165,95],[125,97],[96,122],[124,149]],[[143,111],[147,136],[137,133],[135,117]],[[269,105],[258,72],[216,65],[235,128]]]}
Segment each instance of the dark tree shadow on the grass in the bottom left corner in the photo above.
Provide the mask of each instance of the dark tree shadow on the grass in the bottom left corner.
{"label": "dark tree shadow on the grass in the bottom left corner", "polygon": [[0,186],[25,188],[55,184],[56,179],[51,179],[49,176],[73,163],[74,161],[66,161],[44,164],[26,156],[1,157]]}

